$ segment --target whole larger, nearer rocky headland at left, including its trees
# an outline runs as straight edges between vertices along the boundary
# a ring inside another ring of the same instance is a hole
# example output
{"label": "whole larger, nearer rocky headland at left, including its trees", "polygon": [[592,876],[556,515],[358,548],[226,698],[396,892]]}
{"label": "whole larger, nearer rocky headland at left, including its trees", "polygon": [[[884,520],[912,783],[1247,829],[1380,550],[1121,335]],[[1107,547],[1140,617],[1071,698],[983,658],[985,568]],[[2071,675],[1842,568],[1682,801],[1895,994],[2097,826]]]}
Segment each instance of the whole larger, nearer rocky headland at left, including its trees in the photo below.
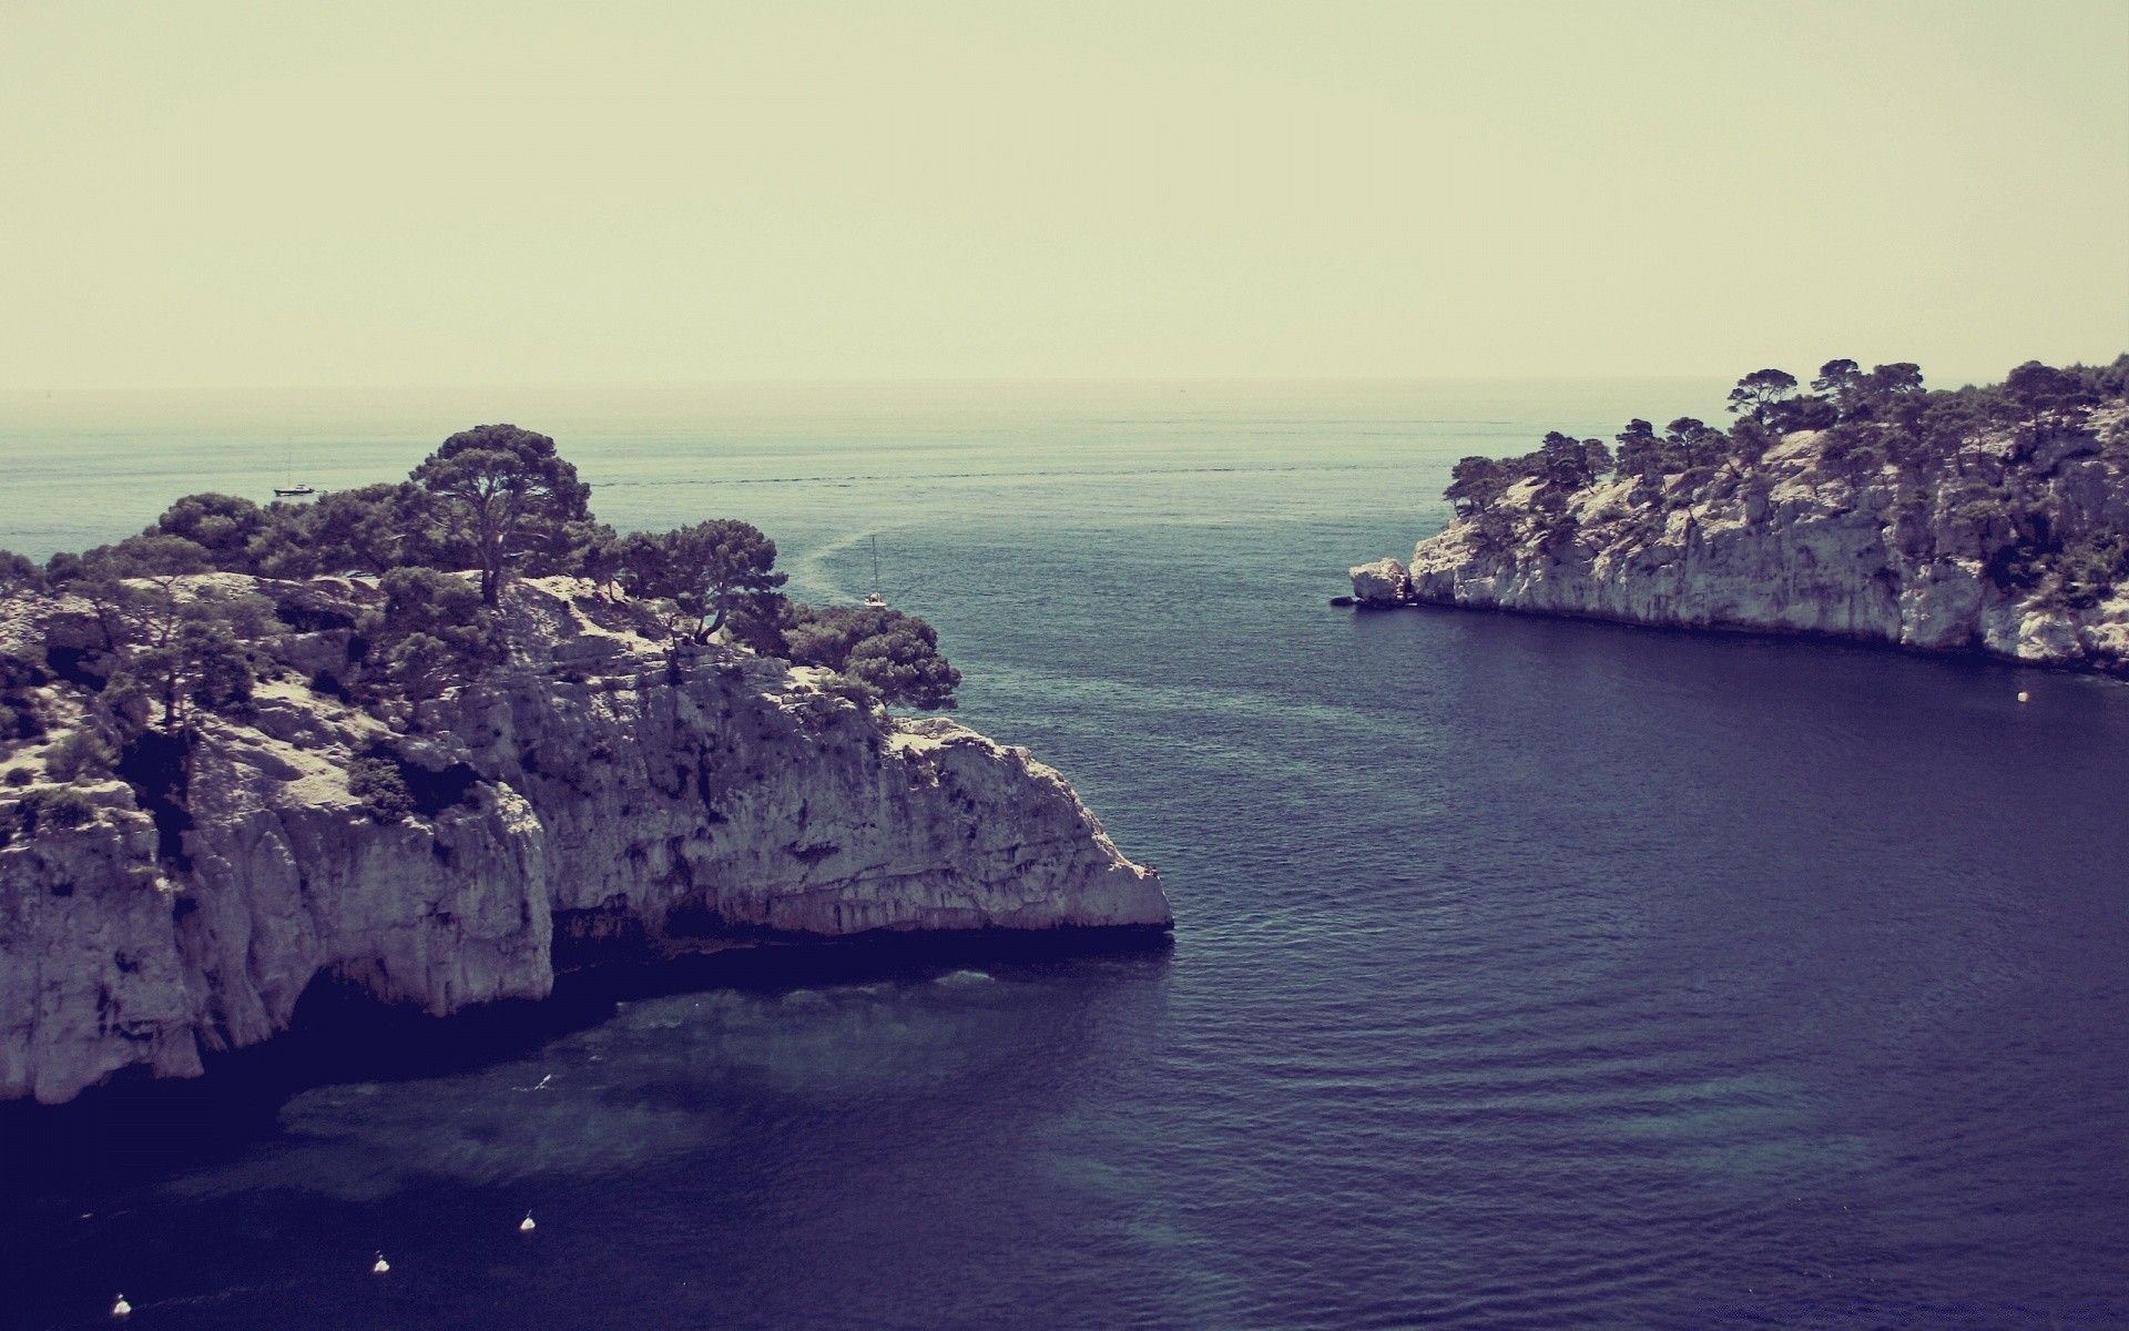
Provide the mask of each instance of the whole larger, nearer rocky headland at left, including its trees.
{"label": "whole larger, nearer rocky headland at left, including its trees", "polygon": [[[505,443],[466,456],[551,454]],[[496,545],[519,573],[407,564],[436,492],[353,500],[351,539],[402,524],[368,577],[315,575],[360,564],[330,503],[0,554],[0,1099],[200,1075],[319,986],[445,1016],[607,960],[1169,929],[1054,769],[890,716],[958,679],[920,620],[783,603],[745,524],[615,543],[581,496]],[[287,549],[311,575],[228,571]]]}

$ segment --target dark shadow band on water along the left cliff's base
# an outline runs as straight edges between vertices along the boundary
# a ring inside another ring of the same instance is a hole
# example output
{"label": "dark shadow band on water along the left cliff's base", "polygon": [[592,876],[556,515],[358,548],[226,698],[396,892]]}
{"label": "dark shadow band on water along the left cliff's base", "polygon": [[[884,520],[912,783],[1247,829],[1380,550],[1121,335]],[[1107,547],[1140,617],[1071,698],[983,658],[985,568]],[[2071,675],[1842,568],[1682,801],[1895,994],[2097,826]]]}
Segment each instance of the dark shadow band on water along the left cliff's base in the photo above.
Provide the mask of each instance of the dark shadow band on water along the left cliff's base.
{"label": "dark shadow band on water along the left cliff's base", "polygon": [[202,1078],[126,1069],[66,1105],[0,1103],[0,1199],[151,1182],[230,1159],[277,1131],[281,1105],[311,1086],[402,1082],[519,1058],[596,1026],[615,1003],[713,988],[777,992],[830,984],[920,982],[950,969],[1069,967],[1120,952],[1165,960],[1160,929],[873,933],[849,939],[762,937],[686,956],[609,950],[556,980],[543,1001],[505,1001],[432,1018],[358,986],[315,980],[290,1031],[207,1058]]}

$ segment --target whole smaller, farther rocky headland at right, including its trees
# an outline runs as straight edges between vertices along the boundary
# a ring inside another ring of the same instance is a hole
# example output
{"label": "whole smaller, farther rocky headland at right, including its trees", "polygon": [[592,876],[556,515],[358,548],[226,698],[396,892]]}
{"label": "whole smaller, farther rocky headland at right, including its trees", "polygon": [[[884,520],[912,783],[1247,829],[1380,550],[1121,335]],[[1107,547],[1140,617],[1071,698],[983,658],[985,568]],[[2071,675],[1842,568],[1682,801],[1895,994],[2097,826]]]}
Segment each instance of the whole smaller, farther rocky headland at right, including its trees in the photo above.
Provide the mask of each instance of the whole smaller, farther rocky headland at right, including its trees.
{"label": "whole smaller, farther rocky headland at right, including its trees", "polygon": [[1801,632],[2129,673],[2129,402],[2112,366],[1925,392],[1831,362],[1748,375],[1714,430],[1633,422],[1458,462],[1412,562],[1352,569],[1367,609],[1450,605]]}

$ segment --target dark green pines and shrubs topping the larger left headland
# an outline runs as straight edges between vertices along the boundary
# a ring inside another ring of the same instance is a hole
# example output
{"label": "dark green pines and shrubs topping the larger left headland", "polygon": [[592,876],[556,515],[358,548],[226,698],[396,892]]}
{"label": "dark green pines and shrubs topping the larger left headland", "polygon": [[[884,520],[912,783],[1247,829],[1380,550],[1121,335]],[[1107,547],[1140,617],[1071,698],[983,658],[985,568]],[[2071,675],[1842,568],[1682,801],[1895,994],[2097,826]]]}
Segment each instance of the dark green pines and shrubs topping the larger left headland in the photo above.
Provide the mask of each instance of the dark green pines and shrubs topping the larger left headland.
{"label": "dark green pines and shrubs topping the larger left headland", "polygon": [[[407,481],[315,503],[187,494],[115,545],[45,564],[0,549],[0,596],[79,596],[102,635],[94,654],[0,652],[0,743],[43,733],[34,696],[53,677],[98,694],[102,724],[79,730],[89,735],[79,754],[89,767],[119,760],[149,730],[181,739],[202,709],[241,713],[253,684],[279,669],[262,641],[290,628],[277,615],[292,611],[181,584],[217,571],[375,577],[379,605],[345,626],[351,656],[364,662],[362,688],[379,696],[428,699],[477,677],[502,660],[496,615],[509,581],[575,575],[609,596],[626,592],[645,628],[675,645],[726,632],[794,664],[837,671],[841,692],[867,703],[954,705],[960,673],[939,654],[930,624],[884,607],[788,601],[775,558],[769,537],[728,517],[615,535],[592,515],[590,486],[554,439],[517,426],[464,430]],[[313,684],[345,692],[334,679]]]}

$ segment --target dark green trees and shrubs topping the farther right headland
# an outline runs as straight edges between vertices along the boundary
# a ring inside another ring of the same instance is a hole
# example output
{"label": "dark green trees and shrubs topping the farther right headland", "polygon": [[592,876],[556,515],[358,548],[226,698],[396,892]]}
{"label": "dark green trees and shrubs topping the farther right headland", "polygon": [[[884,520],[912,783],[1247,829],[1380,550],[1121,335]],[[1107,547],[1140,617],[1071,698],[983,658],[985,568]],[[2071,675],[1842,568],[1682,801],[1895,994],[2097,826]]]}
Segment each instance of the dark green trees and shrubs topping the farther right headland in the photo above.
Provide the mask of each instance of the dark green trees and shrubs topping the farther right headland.
{"label": "dark green trees and shrubs topping the farther right headland", "polygon": [[[1729,430],[1695,417],[1663,432],[1627,422],[1614,439],[1550,432],[1520,458],[1463,458],[1443,490],[1456,515],[1482,541],[1503,541],[1522,513],[1571,522],[1569,498],[1605,477],[1631,479],[1629,517],[1661,524],[1663,513],[1697,503],[1710,486],[1746,479],[1784,434],[1820,430],[1820,460],[1854,483],[1897,479],[1912,494],[1935,496],[1971,541],[1974,556],[2006,590],[2044,605],[2084,609],[2129,584],[2129,535],[2072,532],[2031,498],[2035,469],[2106,451],[2129,456],[2129,432],[2093,432],[2091,413],[2129,394],[2129,356],[2103,366],[2027,362],[1986,388],[1929,390],[1920,366],[1829,360],[1803,390],[1780,368],[1752,371],[1729,394]],[[1993,449],[1980,441],[1995,439]],[[1529,505],[1505,511],[1501,496],[1529,486]]]}

